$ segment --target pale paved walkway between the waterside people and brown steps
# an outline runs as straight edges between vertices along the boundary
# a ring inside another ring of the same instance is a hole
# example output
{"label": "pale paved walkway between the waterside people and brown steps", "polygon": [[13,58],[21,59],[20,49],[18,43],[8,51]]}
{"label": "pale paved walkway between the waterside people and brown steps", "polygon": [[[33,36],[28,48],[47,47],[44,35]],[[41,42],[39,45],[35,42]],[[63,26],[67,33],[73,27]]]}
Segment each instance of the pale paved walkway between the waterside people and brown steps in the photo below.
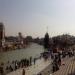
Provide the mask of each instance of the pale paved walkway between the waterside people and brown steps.
{"label": "pale paved walkway between the waterside people and brown steps", "polygon": [[[42,70],[44,70],[50,64],[51,64],[50,59],[48,59],[47,61],[44,61],[43,58],[39,59],[36,61],[35,65],[32,65],[28,68],[24,68],[26,71],[25,75],[37,75],[38,73],[40,73]],[[23,70],[23,68],[20,68],[20,69],[13,71],[7,75],[22,75],[22,70]]]}

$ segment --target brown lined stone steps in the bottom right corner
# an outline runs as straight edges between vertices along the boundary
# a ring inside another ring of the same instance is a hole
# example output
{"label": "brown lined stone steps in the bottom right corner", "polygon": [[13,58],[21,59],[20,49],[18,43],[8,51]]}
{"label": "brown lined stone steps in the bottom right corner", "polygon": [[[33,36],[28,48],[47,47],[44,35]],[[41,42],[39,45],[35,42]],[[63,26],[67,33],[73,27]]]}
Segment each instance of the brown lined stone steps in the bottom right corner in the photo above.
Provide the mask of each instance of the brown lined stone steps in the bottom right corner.
{"label": "brown lined stone steps in the bottom right corner", "polygon": [[62,65],[57,72],[54,72],[53,75],[74,75],[75,71],[75,61],[73,58],[67,59],[65,65]]}

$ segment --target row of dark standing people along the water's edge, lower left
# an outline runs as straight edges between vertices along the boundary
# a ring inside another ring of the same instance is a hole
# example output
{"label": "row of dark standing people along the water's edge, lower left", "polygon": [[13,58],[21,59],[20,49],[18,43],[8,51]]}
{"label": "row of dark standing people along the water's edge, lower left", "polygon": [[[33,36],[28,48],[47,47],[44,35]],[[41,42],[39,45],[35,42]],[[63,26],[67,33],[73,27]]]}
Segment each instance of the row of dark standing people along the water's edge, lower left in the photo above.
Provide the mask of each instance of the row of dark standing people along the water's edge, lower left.
{"label": "row of dark standing people along the water's edge, lower left", "polygon": [[0,75],[4,75],[7,74],[9,72],[15,71],[19,68],[26,68],[28,66],[31,66],[32,64],[36,64],[36,60],[39,59],[38,58],[32,58],[30,57],[29,59],[22,59],[21,61],[12,61],[11,63],[8,61],[6,67],[5,67],[5,71],[4,71],[4,67],[3,65],[0,66]]}

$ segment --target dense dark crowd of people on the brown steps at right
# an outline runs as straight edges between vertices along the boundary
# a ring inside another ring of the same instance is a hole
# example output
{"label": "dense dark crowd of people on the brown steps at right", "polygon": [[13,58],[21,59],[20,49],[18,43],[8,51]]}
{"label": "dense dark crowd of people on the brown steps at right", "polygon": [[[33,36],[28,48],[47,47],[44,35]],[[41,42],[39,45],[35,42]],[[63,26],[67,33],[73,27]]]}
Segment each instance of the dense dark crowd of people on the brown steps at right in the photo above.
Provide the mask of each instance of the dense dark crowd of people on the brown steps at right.
{"label": "dense dark crowd of people on the brown steps at right", "polygon": [[59,70],[60,66],[61,66],[61,59],[65,58],[66,56],[68,56],[69,58],[74,56],[74,50],[68,50],[68,51],[62,51],[61,52],[57,52],[54,53],[54,57],[52,56],[53,59],[53,72]]}

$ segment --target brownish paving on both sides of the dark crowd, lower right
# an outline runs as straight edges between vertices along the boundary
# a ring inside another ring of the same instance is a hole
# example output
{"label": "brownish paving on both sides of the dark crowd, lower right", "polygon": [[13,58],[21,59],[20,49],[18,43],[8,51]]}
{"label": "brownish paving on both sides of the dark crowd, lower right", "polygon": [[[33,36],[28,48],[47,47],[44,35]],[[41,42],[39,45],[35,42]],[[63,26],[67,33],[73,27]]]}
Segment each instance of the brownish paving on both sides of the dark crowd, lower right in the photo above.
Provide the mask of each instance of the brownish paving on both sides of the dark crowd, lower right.
{"label": "brownish paving on both sides of the dark crowd, lower right", "polygon": [[[65,64],[65,65],[64,65]],[[45,68],[41,73],[42,75],[72,75],[75,70],[75,61],[74,58],[71,57],[66,57],[62,59],[62,65],[60,66],[60,69],[54,73],[51,73],[51,67],[52,65],[50,64],[48,67]],[[74,74],[75,75],[75,74]]]}

